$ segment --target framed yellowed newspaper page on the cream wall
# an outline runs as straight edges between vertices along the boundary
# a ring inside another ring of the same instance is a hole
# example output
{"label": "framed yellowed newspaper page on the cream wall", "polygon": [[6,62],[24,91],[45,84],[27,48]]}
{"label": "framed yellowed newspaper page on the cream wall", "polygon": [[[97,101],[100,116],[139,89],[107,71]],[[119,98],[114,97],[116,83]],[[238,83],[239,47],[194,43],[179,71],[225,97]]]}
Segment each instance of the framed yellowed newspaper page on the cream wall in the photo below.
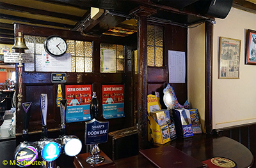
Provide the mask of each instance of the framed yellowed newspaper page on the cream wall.
{"label": "framed yellowed newspaper page on the cream wall", "polygon": [[239,79],[241,40],[220,37],[219,79]]}

